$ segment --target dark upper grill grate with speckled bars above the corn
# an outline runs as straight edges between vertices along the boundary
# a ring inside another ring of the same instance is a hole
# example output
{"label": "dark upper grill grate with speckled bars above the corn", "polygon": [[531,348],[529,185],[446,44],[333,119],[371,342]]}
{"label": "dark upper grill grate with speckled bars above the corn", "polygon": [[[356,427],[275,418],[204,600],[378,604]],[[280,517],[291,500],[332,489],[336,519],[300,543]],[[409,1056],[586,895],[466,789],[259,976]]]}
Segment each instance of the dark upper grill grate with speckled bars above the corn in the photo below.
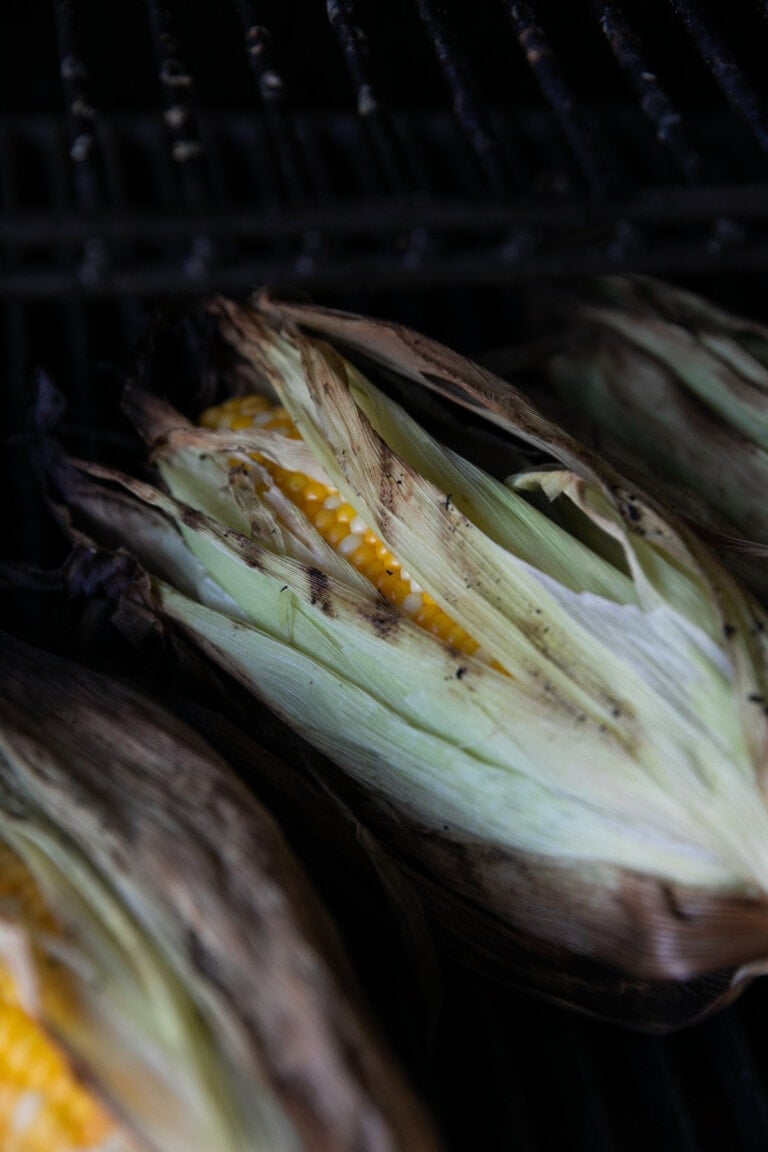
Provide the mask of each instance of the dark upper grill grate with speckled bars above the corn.
{"label": "dark upper grill grate with speckled bars above the corn", "polygon": [[14,13],[5,295],[768,264],[760,5],[727,35],[698,0],[116,7],[108,62],[93,0]]}

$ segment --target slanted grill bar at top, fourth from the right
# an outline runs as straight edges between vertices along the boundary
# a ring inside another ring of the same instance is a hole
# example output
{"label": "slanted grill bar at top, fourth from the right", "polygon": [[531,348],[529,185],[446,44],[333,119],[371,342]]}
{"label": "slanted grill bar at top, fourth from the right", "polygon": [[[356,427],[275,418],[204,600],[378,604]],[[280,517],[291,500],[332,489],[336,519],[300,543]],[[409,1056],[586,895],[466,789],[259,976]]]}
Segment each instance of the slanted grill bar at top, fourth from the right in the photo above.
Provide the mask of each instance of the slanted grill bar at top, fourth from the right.
{"label": "slanted grill bar at top, fourth from the right", "polygon": [[458,122],[489,187],[500,195],[511,191],[509,153],[501,147],[488,109],[474,83],[469,60],[458,50],[448,24],[438,14],[432,0],[416,0],[416,7],[450,89]]}

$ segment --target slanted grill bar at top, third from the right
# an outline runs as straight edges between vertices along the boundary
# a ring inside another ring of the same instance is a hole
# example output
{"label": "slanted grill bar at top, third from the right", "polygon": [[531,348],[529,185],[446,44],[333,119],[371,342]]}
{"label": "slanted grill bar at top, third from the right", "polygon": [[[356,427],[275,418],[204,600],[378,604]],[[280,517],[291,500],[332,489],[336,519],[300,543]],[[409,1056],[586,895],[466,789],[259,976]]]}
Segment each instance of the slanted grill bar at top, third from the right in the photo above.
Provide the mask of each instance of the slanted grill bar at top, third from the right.
{"label": "slanted grill bar at top, third from the right", "polygon": [[557,66],[549,38],[529,3],[505,0],[507,15],[526,60],[543,92],[576,160],[592,189],[606,195],[615,184],[614,175],[600,158],[587,126],[576,108],[576,100]]}

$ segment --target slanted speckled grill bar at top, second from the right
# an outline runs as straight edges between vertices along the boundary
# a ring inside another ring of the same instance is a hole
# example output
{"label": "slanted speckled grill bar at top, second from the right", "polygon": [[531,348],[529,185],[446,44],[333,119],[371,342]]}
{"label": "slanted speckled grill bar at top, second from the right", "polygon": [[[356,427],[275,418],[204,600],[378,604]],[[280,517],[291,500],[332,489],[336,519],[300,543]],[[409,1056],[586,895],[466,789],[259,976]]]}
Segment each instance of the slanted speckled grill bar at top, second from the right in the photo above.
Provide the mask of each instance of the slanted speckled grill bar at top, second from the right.
{"label": "slanted speckled grill bar at top, second from the right", "polygon": [[651,121],[655,138],[670,153],[677,172],[687,181],[702,176],[701,157],[683,129],[683,118],[659,82],[642,41],[618,3],[590,0],[616,62],[626,75]]}

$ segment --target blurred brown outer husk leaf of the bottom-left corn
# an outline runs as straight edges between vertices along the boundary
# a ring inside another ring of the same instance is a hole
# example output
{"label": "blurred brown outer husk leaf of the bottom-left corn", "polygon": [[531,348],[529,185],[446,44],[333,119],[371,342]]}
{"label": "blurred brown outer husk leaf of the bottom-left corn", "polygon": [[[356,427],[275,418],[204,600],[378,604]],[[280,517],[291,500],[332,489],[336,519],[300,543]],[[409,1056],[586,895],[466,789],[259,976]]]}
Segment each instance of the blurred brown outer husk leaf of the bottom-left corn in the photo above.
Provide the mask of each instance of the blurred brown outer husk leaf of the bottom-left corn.
{"label": "blurred brown outer husk leaf of the bottom-left corn", "polygon": [[330,920],[228,765],[135,688],[0,643],[6,812],[40,813],[146,912],[145,930],[164,924],[210,985],[223,1049],[276,1094],[303,1147],[436,1149]]}

